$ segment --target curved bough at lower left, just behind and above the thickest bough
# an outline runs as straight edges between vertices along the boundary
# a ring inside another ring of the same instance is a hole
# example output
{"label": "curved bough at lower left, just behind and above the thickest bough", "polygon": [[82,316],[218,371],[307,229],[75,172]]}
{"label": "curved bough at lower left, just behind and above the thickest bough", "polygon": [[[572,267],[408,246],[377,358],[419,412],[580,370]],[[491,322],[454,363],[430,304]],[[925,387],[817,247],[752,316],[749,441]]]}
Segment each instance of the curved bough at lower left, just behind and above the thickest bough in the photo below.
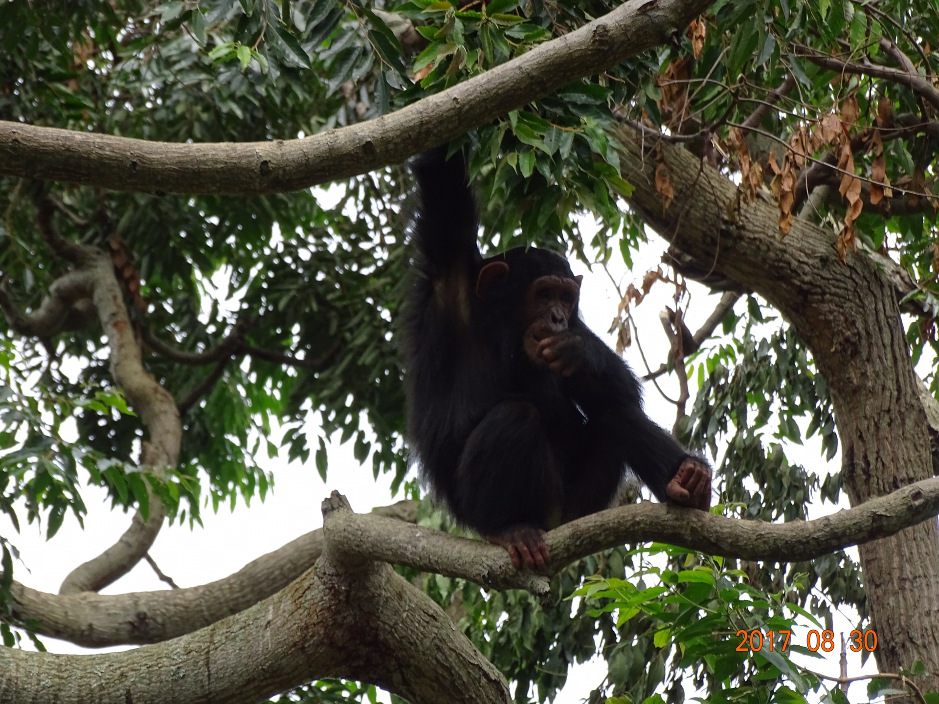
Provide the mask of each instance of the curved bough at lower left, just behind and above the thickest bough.
{"label": "curved bough at lower left, just behind and above the thickest bough", "polygon": [[[398,501],[373,513],[413,523],[417,501]],[[36,622],[38,635],[85,648],[159,643],[205,628],[267,599],[310,569],[322,550],[323,530],[316,528],[234,574],[188,589],[61,595],[13,582],[12,616],[20,622]]]}

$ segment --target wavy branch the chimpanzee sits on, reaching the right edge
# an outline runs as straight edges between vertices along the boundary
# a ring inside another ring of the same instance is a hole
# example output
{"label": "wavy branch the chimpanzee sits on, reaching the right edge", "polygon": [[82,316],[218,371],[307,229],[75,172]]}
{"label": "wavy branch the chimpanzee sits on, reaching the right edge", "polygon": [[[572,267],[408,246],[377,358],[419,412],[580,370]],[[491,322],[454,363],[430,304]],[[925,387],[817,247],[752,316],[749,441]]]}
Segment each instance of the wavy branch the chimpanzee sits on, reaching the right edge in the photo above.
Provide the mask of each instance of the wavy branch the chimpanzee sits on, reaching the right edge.
{"label": "wavy branch the chimpanzee sits on, reaching the right edge", "polygon": [[[552,573],[623,543],[656,541],[727,558],[800,562],[893,535],[939,514],[939,478],[916,482],[847,511],[812,521],[762,523],[643,501],[579,518],[546,535]],[[463,577],[491,589],[528,589],[546,581],[512,566],[500,547],[377,516],[335,512],[326,541],[343,553],[422,572]]]}

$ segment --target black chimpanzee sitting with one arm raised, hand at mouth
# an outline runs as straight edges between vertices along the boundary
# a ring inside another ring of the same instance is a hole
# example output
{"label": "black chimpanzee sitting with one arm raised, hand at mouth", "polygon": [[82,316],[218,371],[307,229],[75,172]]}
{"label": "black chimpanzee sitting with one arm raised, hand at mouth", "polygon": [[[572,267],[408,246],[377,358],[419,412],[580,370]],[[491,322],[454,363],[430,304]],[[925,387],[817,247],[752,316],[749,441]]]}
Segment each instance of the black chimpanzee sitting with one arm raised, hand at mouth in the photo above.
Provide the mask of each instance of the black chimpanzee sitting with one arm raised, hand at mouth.
{"label": "black chimpanzee sitting with one arm raised, hand at mouth", "polygon": [[544,531],[608,508],[627,468],[659,500],[711,502],[711,468],[642,411],[629,367],[577,314],[559,254],[484,259],[462,155],[412,162],[419,205],[404,320],[411,451],[461,524],[544,569]]}

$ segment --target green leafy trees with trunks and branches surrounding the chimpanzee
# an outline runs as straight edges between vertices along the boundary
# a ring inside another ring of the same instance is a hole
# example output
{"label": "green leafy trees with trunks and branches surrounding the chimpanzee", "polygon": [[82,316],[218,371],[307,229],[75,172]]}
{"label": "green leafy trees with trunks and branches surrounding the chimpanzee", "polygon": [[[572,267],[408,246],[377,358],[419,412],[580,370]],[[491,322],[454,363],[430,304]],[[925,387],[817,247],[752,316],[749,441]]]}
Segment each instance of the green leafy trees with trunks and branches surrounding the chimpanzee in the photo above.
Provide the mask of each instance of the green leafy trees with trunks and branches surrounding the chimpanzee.
{"label": "green leafy trees with trunks and branches surrounding the chimpanzee", "polygon": [[[934,0],[0,5],[0,510],[52,537],[91,483],[136,512],[57,595],[14,580],[0,537],[0,631],[146,644],[5,649],[0,698],[545,700],[599,653],[593,700],[840,704],[733,635],[823,631],[845,606],[879,637],[870,694],[932,704],[936,46]],[[677,377],[674,433],[715,459],[722,516],[590,516],[535,575],[415,504],[405,161],[448,142],[487,252],[602,271],[669,242],[613,331],[641,342],[636,306],[674,289],[647,376]],[[689,282],[722,294],[696,331]],[[261,456],[325,480],[329,437],[408,502],[364,517],[333,496],[323,530],[225,580],[97,593],[165,520],[264,497]],[[791,460],[808,438],[839,471]],[[805,522],[842,490],[851,512]]]}

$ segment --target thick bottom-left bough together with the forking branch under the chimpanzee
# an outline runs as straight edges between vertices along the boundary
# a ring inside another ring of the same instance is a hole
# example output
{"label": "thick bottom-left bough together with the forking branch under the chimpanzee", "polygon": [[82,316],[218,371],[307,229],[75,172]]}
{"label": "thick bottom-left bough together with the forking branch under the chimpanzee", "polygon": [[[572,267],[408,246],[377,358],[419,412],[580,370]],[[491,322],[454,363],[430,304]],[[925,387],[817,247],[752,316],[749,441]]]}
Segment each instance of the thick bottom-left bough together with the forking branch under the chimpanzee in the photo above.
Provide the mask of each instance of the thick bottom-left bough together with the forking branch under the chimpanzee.
{"label": "thick bottom-left bough together with the forking branch under the chimpanzee", "polygon": [[[652,540],[741,559],[802,561],[881,539],[936,513],[939,478],[931,478],[850,511],[785,524],[643,502],[556,528],[546,542],[553,572],[609,547]],[[93,656],[0,649],[0,696],[24,704],[74,701],[94,687],[103,704],[163,701],[167,692],[175,701],[253,704],[304,681],[341,677],[375,682],[412,704],[508,701],[499,672],[439,606],[373,560],[483,576],[488,583],[504,579],[504,586],[543,578],[517,571],[494,545],[352,513],[336,492],[323,502],[323,525],[315,569],[192,635]]]}

